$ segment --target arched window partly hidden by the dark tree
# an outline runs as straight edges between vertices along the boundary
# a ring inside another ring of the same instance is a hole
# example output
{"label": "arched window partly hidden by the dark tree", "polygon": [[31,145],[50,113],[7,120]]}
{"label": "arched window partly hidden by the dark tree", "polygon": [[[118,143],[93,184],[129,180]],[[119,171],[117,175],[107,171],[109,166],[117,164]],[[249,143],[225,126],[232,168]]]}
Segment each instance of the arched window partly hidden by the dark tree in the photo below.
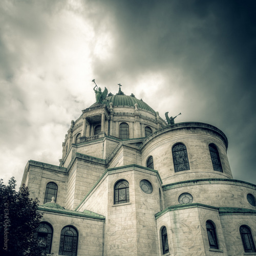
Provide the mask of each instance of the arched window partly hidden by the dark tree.
{"label": "arched window partly hidden by the dark tree", "polygon": [[52,233],[52,226],[47,222],[41,222],[34,233],[34,238],[39,242],[41,247],[44,247],[43,252],[45,253],[51,253]]}

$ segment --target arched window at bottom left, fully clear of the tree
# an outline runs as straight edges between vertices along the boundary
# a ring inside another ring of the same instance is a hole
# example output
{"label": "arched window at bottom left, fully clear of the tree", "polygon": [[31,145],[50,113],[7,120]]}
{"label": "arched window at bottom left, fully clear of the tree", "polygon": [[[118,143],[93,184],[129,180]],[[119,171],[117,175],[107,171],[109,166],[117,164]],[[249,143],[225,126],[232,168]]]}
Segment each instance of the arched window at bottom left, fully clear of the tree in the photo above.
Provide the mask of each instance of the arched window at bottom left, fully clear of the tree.
{"label": "arched window at bottom left, fully clear of the tree", "polygon": [[76,256],[77,230],[72,226],[63,227],[60,232],[59,255]]}

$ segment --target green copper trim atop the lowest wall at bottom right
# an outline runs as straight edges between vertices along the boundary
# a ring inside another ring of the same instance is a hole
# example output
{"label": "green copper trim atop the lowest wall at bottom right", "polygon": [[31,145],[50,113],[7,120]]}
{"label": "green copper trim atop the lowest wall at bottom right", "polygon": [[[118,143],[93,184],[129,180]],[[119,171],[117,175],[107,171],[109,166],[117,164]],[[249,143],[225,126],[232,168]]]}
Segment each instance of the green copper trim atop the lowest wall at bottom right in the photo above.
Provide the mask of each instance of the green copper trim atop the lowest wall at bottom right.
{"label": "green copper trim atop the lowest wall at bottom right", "polygon": [[253,214],[253,215],[255,214],[256,215],[256,210],[252,210],[252,209],[236,208],[236,207],[216,207],[216,206],[211,206],[206,204],[194,203],[194,204],[179,204],[179,205],[169,206],[164,210],[155,214],[155,218],[158,219],[162,215],[166,214],[166,212],[168,211],[195,208],[195,207],[203,207],[203,208],[216,210],[216,211],[219,211],[220,215],[229,215],[229,214]]}

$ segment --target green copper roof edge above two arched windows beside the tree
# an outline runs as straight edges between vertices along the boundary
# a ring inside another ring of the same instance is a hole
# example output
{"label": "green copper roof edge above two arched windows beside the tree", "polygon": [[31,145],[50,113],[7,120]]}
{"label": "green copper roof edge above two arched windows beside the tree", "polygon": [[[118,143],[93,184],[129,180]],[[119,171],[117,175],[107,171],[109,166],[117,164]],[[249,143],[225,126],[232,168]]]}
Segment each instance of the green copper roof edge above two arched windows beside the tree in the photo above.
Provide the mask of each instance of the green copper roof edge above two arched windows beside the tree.
{"label": "green copper roof edge above two arched windows beside the tree", "polygon": [[69,216],[78,216],[83,218],[105,220],[105,217],[103,215],[96,214],[93,211],[81,212],[81,211],[73,211],[73,210],[66,210],[66,209],[56,209],[56,208],[47,207],[45,205],[39,205],[38,210],[55,212],[56,214],[63,214],[63,215],[69,215]]}

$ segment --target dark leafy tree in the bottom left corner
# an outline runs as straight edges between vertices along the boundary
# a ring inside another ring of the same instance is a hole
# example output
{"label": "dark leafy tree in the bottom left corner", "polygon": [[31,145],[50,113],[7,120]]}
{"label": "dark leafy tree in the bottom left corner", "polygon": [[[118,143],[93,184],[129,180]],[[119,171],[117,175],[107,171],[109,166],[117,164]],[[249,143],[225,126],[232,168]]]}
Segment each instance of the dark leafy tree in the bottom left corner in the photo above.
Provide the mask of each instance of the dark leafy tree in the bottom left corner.
{"label": "dark leafy tree in the bottom left corner", "polygon": [[38,200],[29,197],[28,187],[15,190],[12,177],[9,185],[0,180],[0,255],[39,256],[42,247],[33,234],[42,214],[37,211]]}

